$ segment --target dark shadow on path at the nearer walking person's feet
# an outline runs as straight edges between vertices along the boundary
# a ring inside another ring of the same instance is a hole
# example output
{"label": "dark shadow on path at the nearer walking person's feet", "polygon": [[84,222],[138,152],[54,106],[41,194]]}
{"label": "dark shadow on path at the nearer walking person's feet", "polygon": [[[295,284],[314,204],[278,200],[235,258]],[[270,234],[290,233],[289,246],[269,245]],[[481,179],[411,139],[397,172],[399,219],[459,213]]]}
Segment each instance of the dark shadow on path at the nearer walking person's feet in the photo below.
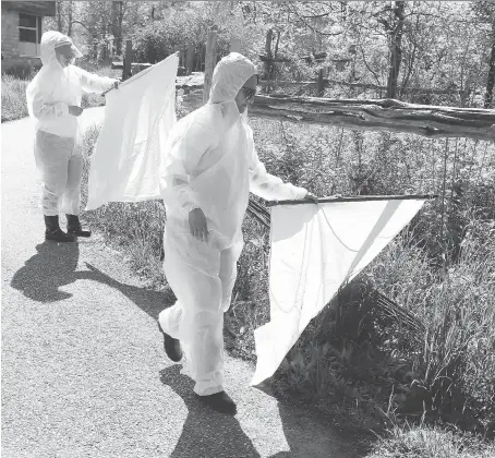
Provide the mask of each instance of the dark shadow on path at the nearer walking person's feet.
{"label": "dark shadow on path at the nearer walking person's feet", "polygon": [[189,411],[170,458],[259,457],[234,417],[217,413],[195,398],[194,383],[180,374],[179,365],[160,371],[160,379],[183,399]]}

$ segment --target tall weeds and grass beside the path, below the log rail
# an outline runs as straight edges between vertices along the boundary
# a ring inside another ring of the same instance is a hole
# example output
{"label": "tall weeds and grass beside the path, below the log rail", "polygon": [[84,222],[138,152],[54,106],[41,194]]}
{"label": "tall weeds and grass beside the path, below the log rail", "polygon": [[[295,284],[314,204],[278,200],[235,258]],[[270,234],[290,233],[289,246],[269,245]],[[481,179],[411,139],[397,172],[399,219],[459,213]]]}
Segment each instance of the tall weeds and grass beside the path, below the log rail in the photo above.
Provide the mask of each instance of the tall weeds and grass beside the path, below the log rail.
{"label": "tall weeds and grass beside the path, below the log rail", "polygon": [[[439,194],[313,320],[271,388],[343,427],[378,433],[370,457],[494,456],[494,146],[256,119],[252,125],[267,169],[317,195]],[[96,136],[86,137],[86,157]],[[109,204],[86,217],[150,288],[166,288],[161,202]],[[226,337],[232,353],[254,360],[253,330],[269,320],[269,244],[256,221],[246,218],[243,231]],[[371,289],[424,330],[384,315]]]}

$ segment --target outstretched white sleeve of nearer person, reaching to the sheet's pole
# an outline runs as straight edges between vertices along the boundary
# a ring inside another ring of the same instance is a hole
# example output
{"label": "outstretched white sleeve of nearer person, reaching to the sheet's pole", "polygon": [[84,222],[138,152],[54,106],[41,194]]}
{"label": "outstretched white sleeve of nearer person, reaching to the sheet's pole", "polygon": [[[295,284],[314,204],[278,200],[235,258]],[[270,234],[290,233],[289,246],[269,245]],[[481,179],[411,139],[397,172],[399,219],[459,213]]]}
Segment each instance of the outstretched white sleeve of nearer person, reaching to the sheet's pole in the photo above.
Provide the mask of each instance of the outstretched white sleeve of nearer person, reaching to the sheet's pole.
{"label": "outstretched white sleeve of nearer person, reaching to the sheet's pole", "polygon": [[285,183],[280,178],[266,171],[254,147],[253,130],[246,125],[247,142],[251,149],[250,191],[266,201],[302,200],[307,194],[304,188]]}

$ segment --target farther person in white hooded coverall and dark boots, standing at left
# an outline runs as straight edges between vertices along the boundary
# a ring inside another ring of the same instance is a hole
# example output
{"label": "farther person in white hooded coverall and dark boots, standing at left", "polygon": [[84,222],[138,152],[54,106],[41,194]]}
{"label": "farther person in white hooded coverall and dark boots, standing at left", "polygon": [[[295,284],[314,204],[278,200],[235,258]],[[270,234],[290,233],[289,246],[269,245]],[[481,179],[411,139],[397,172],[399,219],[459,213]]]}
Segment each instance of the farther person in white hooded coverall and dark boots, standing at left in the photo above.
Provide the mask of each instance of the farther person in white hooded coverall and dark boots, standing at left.
{"label": "farther person in white hooded coverall and dark boots, standing at left", "polygon": [[[82,57],[71,38],[59,32],[41,37],[43,68],[26,89],[27,109],[35,120],[35,160],[41,178],[45,239],[73,242],[89,237],[79,219],[83,177],[82,92],[104,93],[118,80],[100,77],[73,65]],[[59,210],[68,218],[68,233],[59,226]]]}

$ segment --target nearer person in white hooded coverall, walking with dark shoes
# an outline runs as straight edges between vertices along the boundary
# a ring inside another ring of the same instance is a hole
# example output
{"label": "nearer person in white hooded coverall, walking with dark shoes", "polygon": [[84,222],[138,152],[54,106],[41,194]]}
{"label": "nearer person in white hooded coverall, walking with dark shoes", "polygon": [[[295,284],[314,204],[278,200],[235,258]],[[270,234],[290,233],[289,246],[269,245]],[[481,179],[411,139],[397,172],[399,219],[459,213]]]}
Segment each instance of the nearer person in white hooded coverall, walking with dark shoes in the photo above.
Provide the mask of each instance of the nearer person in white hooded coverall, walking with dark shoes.
{"label": "nearer person in white hooded coverall, walking with dark shoes", "polygon": [[232,52],[213,75],[208,103],[181,119],[169,136],[161,168],[167,224],[164,268],[177,302],[158,327],[168,357],[195,381],[194,391],[215,410],[233,414],[224,391],[224,313],[230,306],[242,220],[250,191],[266,200],[316,201],[305,189],[266,172],[247,124],[254,64]]}

